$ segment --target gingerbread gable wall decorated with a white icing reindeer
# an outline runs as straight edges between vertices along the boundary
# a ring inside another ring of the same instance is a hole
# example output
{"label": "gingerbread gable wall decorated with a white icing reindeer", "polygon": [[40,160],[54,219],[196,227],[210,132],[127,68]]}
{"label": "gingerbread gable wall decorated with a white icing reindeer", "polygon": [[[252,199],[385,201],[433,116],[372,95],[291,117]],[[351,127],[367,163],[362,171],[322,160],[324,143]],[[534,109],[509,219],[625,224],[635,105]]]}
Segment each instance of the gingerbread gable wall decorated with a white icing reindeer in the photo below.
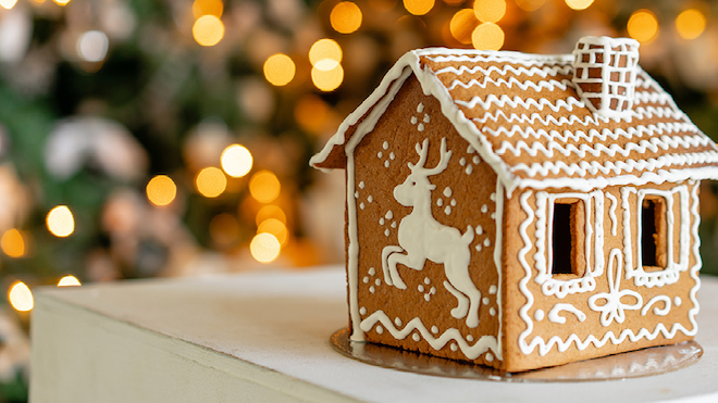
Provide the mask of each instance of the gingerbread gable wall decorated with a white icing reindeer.
{"label": "gingerbread gable wall decorated with a white icing reindeer", "polygon": [[[422,152],[423,171],[411,169]],[[356,147],[354,167],[360,336],[499,366],[496,174],[413,76]]]}

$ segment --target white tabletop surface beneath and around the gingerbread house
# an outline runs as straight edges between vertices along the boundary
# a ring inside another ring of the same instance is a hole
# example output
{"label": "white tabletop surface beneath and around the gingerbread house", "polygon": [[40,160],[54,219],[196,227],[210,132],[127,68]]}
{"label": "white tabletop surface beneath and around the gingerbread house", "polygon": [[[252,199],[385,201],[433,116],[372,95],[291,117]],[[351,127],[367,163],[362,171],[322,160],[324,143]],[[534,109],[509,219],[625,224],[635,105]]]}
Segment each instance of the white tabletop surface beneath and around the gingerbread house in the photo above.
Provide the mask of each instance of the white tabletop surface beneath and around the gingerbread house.
{"label": "white tabletop surface beneath and around the gingerbread house", "polygon": [[[270,369],[292,381],[287,385],[300,385],[299,399],[376,402],[718,402],[718,279],[703,277],[698,300],[696,341],[704,355],[691,367],[622,381],[509,383],[398,371],[335,352],[329,338],[347,325],[342,267],[126,281],[37,294],[40,310],[71,306],[186,342],[226,358],[225,366],[249,363]],[[38,315],[34,326],[41,320]],[[44,337],[49,338],[33,333],[34,342]],[[33,353],[33,374],[41,374],[50,360]],[[38,390],[53,387],[47,375],[37,377],[41,381],[33,378],[30,391],[36,399],[48,395]],[[323,392],[312,394],[314,389]]]}

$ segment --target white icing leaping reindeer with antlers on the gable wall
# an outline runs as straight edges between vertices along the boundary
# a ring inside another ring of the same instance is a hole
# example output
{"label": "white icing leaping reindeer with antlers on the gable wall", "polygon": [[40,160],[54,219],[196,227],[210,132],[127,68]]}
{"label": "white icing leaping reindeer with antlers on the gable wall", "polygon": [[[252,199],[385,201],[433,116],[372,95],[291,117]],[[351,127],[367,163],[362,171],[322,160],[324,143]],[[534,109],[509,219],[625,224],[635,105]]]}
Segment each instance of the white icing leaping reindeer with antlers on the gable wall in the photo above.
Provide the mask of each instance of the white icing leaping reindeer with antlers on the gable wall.
{"label": "white icing leaping reindeer with antlers on the gable wall", "polygon": [[[479,306],[481,291],[476,289],[469,276],[471,251],[469,244],[473,240],[473,228],[469,225],[461,232],[437,222],[431,212],[431,191],[436,185],[429,181],[429,176],[437,175],[446,169],[451,151],[446,151],[446,139],[442,139],[441,159],[435,167],[424,167],[429,153],[429,139],[422,146],[417,143],[419,162],[409,163],[411,174],[404,184],[394,188],[394,199],[401,205],[413,207],[411,213],[399,223],[399,245],[388,245],[382,250],[382,269],[384,281],[389,286],[406,290],[397,264],[403,264],[414,270],[424,268],[426,260],[444,264],[448,281],[444,287],[456,297],[458,306],[451,310],[451,316],[457,319],[467,318],[467,326],[479,326]],[[405,253],[401,253],[405,252]]]}

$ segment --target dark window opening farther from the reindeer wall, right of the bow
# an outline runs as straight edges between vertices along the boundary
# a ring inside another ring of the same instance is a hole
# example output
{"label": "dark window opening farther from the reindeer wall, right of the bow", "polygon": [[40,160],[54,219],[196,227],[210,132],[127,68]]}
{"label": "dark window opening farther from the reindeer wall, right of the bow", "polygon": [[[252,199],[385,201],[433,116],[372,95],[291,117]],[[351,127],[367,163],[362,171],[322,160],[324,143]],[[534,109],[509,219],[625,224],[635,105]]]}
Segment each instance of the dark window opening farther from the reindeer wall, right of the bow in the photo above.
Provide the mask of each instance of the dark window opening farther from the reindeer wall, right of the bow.
{"label": "dark window opening farther from the reindeer wall, right of the bow", "polygon": [[646,272],[667,266],[666,199],[646,194],[641,206],[641,263]]}

